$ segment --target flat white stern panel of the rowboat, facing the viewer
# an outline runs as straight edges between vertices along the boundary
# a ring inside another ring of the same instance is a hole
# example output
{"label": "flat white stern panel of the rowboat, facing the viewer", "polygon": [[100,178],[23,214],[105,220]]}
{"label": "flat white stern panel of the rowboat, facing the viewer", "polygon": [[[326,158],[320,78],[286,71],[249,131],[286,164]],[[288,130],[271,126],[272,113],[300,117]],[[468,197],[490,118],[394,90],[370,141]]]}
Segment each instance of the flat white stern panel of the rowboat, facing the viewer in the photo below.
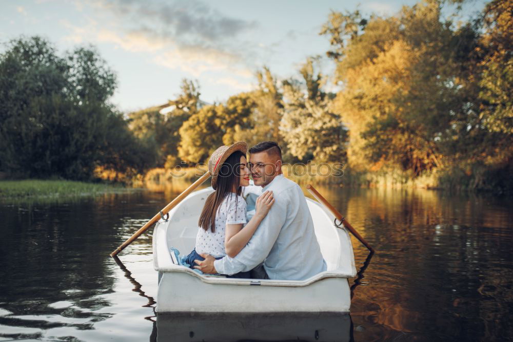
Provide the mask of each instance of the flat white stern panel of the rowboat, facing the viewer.
{"label": "flat white stern panel of the rowboat, facing the viewer", "polygon": [[295,282],[274,286],[273,281],[224,280],[209,284],[186,272],[163,272],[156,311],[349,312],[351,305],[349,284],[343,277],[329,277],[304,286]]}

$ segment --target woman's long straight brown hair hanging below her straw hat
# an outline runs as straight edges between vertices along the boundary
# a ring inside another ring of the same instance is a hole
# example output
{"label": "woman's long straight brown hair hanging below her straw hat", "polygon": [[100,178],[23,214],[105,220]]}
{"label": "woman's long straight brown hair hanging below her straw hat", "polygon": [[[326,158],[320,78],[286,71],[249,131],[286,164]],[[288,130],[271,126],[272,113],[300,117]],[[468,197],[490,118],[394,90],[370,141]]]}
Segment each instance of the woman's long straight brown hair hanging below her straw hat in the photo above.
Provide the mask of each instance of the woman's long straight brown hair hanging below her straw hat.
{"label": "woman's long straight brown hair hanging below her straw hat", "polygon": [[228,195],[234,195],[231,190],[235,184],[236,194],[241,195],[241,157],[246,157],[241,151],[233,152],[221,165],[217,189],[207,197],[200,215],[199,226],[205,230],[215,231],[215,215],[219,206]]}

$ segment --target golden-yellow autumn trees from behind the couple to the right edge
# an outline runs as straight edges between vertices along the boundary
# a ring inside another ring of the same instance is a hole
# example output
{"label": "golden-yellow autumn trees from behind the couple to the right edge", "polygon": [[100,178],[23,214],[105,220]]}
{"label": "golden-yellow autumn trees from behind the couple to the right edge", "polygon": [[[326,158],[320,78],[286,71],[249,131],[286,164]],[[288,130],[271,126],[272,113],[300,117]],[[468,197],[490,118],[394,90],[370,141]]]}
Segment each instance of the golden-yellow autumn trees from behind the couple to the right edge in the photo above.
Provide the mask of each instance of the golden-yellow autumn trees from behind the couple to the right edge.
{"label": "golden-yellow autumn trees from behind the couple to the right edge", "polygon": [[[221,144],[274,140],[289,162],[513,188],[513,0],[491,1],[460,23],[442,14],[454,3],[465,1],[424,0],[388,16],[332,12],[320,34],[334,75],[323,74],[319,57],[306,59],[300,77],[280,80],[264,67],[254,90],[203,106],[199,86],[185,82],[171,115],[141,112],[131,127],[189,164]],[[196,104],[181,110],[190,99]]]}

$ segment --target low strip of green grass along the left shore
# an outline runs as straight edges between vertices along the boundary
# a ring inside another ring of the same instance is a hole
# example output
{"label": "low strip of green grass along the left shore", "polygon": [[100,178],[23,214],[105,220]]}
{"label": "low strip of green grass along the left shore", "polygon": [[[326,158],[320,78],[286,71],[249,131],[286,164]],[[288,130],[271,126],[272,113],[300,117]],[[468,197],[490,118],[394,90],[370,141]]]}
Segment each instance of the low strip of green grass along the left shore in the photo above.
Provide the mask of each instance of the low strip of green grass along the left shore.
{"label": "low strip of green grass along the left shore", "polygon": [[126,191],[126,189],[122,186],[67,180],[27,179],[0,181],[0,199],[2,200],[92,196],[116,191]]}

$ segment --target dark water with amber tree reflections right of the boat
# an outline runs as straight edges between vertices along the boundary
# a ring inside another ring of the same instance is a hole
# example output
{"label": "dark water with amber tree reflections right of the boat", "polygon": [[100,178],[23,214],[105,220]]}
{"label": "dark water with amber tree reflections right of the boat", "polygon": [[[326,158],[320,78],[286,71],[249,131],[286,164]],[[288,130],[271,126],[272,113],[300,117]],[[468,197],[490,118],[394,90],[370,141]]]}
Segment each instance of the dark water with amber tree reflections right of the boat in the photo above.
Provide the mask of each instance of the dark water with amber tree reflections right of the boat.
{"label": "dark water with amber tree reflections right of the boat", "polygon": [[[351,310],[367,340],[511,336],[503,316],[513,302],[510,199],[387,189],[341,195],[333,201],[377,251]],[[494,286],[491,296],[479,292],[483,283]]]}

